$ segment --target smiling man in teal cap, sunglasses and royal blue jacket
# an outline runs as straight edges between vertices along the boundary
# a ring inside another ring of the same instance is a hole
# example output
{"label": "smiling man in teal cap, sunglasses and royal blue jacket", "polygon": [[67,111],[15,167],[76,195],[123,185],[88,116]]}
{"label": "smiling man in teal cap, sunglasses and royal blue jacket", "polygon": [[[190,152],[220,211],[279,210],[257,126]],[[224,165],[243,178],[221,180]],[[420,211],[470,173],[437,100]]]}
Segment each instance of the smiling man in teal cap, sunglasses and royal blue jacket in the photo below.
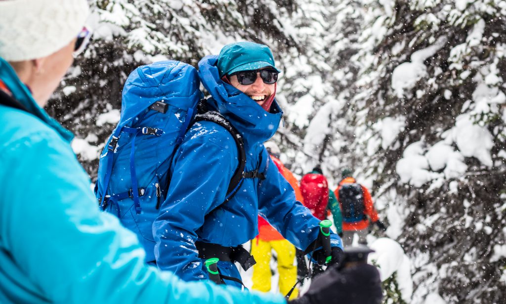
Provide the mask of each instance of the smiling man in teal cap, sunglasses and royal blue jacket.
{"label": "smiling man in teal cap, sunglasses and royal blue jacket", "polygon": [[[152,226],[158,268],[187,281],[203,280],[209,277],[204,260],[218,257],[223,283],[241,286],[234,262],[244,270],[252,265],[241,244],[258,235],[259,213],[296,247],[316,249],[321,260],[320,220],[296,200],[263,145],[283,115],[274,99],[279,71],[270,49],[236,42],[225,46],[219,56],[204,57],[198,66],[200,80],[211,95],[207,109],[223,115],[243,139],[247,173],[227,200],[239,158],[234,139],[210,121],[189,129],[175,152],[167,197]],[[332,233],[330,239],[331,264],[336,264],[343,247],[338,235]]]}

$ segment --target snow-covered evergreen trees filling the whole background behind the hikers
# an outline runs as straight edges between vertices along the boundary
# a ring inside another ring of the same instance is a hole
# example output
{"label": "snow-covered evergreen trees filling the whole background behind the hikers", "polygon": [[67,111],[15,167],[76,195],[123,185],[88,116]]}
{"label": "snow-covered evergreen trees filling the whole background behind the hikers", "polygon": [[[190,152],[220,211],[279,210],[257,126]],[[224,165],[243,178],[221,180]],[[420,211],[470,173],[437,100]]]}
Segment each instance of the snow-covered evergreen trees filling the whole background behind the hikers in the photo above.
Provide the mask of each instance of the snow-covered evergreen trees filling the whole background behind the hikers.
{"label": "snow-covered evergreen trees filling the whole background behind the hikers", "polygon": [[48,106],[92,179],[135,67],[261,42],[283,71],[281,160],[298,175],[322,162],[333,186],[352,167],[389,226],[370,236],[385,302],[506,302],[506,1],[92,6],[92,45]]}

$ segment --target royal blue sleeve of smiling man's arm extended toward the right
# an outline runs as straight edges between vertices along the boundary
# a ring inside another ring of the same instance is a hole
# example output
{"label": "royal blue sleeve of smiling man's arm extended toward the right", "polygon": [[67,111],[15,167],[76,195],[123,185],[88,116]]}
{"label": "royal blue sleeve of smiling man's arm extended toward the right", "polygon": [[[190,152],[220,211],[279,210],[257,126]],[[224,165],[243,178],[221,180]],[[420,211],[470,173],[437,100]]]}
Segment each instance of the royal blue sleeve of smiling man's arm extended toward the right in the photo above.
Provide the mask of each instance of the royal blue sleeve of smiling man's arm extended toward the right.
{"label": "royal blue sleeve of smiling man's arm extended toward the right", "polygon": [[[269,163],[266,179],[259,189],[259,212],[290,243],[305,250],[318,237],[320,220],[296,200],[293,188],[265,149],[262,158],[268,159]],[[341,238],[334,232],[331,233],[331,245],[343,249]]]}

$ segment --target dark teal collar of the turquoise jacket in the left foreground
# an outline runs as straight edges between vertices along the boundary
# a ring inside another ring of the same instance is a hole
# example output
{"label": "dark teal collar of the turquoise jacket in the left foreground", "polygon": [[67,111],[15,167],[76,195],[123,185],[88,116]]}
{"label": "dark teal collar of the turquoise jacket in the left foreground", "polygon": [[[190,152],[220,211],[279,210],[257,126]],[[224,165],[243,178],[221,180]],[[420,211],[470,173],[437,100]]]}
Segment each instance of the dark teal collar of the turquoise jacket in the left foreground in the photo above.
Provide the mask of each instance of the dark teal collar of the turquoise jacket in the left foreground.
{"label": "dark teal collar of the turquoise jacket in the left foreground", "polygon": [[74,135],[66,128],[64,128],[58,121],[50,117],[43,108],[38,106],[38,104],[33,99],[30,91],[26,85],[24,85],[21,80],[19,80],[18,75],[12,69],[11,65],[1,57],[0,79],[2,79],[2,81],[9,89],[12,98],[17,100],[28,113],[36,116],[48,126],[55,129],[55,131],[58,132],[65,141],[69,143],[72,141]]}

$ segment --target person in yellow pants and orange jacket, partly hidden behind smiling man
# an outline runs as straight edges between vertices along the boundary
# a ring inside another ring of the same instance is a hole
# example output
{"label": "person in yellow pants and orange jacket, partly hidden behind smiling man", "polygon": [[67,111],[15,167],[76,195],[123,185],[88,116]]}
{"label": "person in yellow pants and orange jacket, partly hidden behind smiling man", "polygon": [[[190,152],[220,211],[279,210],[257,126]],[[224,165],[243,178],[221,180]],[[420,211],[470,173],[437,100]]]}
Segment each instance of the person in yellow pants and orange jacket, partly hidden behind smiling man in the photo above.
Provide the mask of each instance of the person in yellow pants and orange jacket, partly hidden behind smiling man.
{"label": "person in yellow pants and orange jacket, partly hidden behind smiling man", "polygon": [[[273,142],[266,142],[264,145],[281,175],[295,190],[297,200],[303,202],[297,179],[279,160],[279,147]],[[258,230],[259,235],[251,241],[251,255],[257,261],[257,264],[253,266],[252,289],[264,292],[271,290],[272,272],[270,262],[271,251],[274,249],[277,254],[279,292],[285,295],[297,282],[297,266],[294,265],[296,248],[260,215],[258,217]],[[297,298],[297,295],[298,290],[295,289],[290,295],[290,299]]]}

